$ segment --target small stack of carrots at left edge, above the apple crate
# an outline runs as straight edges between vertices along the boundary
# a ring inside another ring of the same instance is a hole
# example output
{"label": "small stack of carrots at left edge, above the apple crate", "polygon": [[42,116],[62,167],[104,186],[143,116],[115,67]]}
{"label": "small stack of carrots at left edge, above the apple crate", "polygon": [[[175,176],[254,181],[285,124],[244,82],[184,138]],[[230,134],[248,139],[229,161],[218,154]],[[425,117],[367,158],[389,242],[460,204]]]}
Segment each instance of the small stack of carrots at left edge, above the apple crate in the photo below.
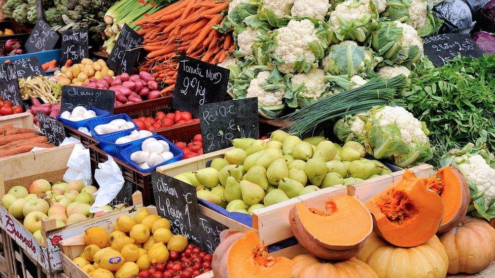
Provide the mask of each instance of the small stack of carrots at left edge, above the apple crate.
{"label": "small stack of carrots at left edge, above the apple crate", "polygon": [[13,125],[0,127],[0,157],[24,153],[34,147],[51,148],[48,138],[34,130],[15,128]]}

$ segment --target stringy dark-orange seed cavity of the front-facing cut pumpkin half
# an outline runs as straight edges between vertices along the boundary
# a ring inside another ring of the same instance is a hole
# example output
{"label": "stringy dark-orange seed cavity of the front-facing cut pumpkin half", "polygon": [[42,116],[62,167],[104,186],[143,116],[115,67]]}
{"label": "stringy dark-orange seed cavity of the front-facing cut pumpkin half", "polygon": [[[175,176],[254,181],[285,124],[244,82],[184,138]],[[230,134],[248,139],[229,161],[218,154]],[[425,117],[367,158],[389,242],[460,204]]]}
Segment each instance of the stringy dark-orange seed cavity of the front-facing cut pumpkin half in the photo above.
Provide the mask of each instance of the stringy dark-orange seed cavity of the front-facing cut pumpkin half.
{"label": "stringy dark-orange seed cavity of the front-facing cut pumpkin half", "polygon": [[399,221],[412,216],[413,205],[407,193],[395,190],[388,190],[385,194],[379,196],[375,205],[391,221]]}

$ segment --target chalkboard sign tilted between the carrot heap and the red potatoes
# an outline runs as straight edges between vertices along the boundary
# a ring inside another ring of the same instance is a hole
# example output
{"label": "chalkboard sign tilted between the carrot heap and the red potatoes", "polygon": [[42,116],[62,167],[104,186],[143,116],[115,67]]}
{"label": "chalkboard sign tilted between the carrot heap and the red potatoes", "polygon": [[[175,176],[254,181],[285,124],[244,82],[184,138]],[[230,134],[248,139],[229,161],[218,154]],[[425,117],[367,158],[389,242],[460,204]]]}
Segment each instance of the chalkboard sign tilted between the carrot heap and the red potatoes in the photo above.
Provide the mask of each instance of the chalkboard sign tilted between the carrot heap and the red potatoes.
{"label": "chalkboard sign tilted between the carrot heap and the red potatoes", "polygon": [[107,60],[108,67],[116,75],[124,72],[131,73],[134,64],[139,59],[141,52],[137,46],[143,43],[144,37],[132,30],[127,24],[124,24],[120,30],[119,38],[115,43],[114,49]]}

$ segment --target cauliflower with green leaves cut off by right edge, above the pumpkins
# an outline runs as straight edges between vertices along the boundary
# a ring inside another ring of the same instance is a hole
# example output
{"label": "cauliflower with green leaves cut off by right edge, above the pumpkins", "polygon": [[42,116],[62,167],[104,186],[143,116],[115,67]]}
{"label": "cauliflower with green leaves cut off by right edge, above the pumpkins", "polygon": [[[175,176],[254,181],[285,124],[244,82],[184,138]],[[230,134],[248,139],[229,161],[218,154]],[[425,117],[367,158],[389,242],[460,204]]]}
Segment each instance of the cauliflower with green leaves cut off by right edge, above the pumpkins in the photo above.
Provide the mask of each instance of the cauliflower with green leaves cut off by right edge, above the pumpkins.
{"label": "cauliflower with green leaves cut off by right edge, above the pumpkins", "polygon": [[469,143],[462,150],[451,150],[440,164],[452,165],[463,173],[471,193],[471,215],[488,221],[495,218],[495,155],[486,146]]}

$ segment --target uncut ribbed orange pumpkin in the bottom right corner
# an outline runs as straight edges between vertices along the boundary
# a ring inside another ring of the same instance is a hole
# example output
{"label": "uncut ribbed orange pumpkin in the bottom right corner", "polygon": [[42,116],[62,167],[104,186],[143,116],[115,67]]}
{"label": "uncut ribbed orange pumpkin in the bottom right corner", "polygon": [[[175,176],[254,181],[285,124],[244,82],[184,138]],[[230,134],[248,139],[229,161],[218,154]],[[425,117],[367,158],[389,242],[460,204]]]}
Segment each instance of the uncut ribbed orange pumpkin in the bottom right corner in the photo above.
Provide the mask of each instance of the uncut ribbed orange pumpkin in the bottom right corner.
{"label": "uncut ribbed orange pumpkin in the bottom right corner", "polygon": [[495,260],[495,229],[486,221],[466,216],[440,235],[449,259],[448,273],[477,273]]}

